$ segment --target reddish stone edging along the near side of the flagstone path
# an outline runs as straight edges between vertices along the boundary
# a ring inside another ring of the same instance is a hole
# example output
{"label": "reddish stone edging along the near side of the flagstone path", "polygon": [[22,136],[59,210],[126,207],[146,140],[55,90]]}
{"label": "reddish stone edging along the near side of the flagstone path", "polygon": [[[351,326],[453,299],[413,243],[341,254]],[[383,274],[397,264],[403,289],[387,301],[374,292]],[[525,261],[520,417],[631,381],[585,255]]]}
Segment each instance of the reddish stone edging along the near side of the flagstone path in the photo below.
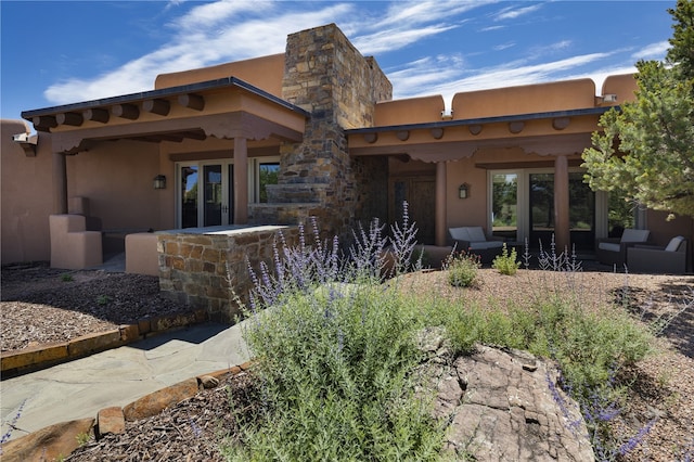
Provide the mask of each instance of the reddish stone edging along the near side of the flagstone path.
{"label": "reddish stone edging along the near side of the flagstone path", "polygon": [[79,448],[81,435],[90,435],[93,432],[99,439],[110,433],[124,433],[126,422],[156,415],[166,408],[194,397],[203,388],[217,386],[226,375],[236,375],[250,367],[252,362],[248,361],[229,369],[198,375],[143,396],[124,408],[102,409],[95,418],[49,425],[2,445],[2,461],[61,460]]}

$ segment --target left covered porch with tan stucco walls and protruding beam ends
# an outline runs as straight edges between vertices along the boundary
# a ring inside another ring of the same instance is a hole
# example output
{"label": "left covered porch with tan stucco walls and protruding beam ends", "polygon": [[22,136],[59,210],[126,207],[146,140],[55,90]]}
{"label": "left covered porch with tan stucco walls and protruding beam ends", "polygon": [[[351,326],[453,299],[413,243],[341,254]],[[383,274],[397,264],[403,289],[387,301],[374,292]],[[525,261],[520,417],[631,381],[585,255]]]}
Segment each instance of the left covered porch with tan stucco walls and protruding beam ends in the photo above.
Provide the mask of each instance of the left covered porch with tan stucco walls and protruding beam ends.
{"label": "left covered porch with tan stucco walls and protruding beam ends", "polygon": [[[233,159],[229,220],[248,223],[249,158],[279,155],[282,143],[301,141],[308,113],[228,77],[27,111],[23,117],[37,130],[51,133],[51,220],[68,214],[85,216],[67,228],[51,227],[56,251],[52,265],[75,268],[101,261],[105,249],[92,232],[123,239],[146,230],[175,229],[177,189],[170,188],[170,180],[167,188],[166,181],[177,178],[177,162],[196,158],[196,153]],[[137,146],[137,154],[131,146]],[[108,150],[113,162],[97,158]],[[133,183],[131,194],[124,191],[129,183]],[[118,193],[108,196],[107,190]],[[75,254],[85,257],[77,261],[64,257]]]}

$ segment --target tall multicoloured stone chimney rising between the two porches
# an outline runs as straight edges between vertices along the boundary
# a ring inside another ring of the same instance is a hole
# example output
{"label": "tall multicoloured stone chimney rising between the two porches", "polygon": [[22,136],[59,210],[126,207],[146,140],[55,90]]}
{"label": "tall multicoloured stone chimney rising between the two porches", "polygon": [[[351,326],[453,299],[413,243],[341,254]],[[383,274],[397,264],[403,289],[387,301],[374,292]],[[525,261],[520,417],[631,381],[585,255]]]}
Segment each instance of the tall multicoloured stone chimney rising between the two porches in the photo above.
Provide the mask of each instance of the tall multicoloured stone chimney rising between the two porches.
{"label": "tall multicoloured stone chimney rising between the two porches", "polygon": [[282,97],[311,116],[304,141],[280,147],[279,184],[268,187],[269,205],[252,207],[253,221],[316,216],[327,234],[345,233],[359,192],[344,129],[373,126],[374,105],[393,98],[393,86],[330,24],[287,37]]}

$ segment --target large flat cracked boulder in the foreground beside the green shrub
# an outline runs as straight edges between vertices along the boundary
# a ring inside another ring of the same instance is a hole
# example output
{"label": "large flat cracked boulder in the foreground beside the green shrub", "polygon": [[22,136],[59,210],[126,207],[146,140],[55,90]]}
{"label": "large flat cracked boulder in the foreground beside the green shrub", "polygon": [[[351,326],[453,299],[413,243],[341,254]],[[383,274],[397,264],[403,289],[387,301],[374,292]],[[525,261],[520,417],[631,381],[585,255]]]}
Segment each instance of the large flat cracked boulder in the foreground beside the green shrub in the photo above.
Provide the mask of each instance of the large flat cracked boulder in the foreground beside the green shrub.
{"label": "large flat cracked boulder in the foreground beside the green shrub", "polygon": [[435,415],[449,422],[446,451],[476,461],[595,460],[578,405],[534,356],[478,346],[451,365],[429,364]]}

